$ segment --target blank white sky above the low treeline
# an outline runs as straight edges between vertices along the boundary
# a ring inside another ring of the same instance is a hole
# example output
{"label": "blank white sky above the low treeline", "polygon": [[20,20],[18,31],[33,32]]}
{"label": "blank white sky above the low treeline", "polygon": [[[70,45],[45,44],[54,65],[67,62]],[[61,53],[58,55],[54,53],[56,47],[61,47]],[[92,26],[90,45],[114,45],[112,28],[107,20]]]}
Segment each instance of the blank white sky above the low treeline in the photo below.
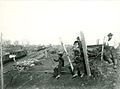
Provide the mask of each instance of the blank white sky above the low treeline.
{"label": "blank white sky above the low treeline", "polygon": [[30,44],[73,44],[80,31],[87,45],[108,33],[120,42],[120,1],[0,1],[3,39]]}

